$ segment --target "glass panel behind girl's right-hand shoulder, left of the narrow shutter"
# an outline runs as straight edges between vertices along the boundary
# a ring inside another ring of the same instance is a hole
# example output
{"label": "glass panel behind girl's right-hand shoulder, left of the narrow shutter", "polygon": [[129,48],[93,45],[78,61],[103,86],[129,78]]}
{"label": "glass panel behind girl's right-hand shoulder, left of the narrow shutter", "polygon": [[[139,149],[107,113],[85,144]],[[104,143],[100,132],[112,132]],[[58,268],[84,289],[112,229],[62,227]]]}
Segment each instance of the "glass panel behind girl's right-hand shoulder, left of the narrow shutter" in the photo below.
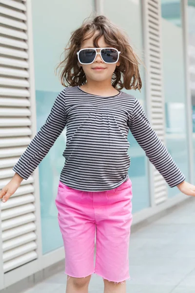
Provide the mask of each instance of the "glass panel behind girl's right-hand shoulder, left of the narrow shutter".
{"label": "glass panel behind girl's right-hand shoulder, left of the narrow shutter", "polygon": [[[112,9],[110,9],[112,7]],[[123,7],[125,9],[118,10],[117,0],[104,1],[105,15],[114,23],[124,29],[129,36],[130,44],[138,54],[142,57],[143,43],[142,43],[142,23],[141,23],[141,1],[140,0],[123,0]],[[134,29],[132,29],[132,27]],[[134,95],[145,109],[144,96],[144,69],[140,66],[140,74],[143,87],[141,93],[138,90],[125,90],[131,95]],[[129,168],[129,177],[133,185],[133,213],[145,209],[150,206],[149,186],[148,186],[148,172],[147,172],[147,157],[143,149],[137,144],[133,135],[129,130],[128,140],[131,146],[128,153],[131,157],[131,166]]]}

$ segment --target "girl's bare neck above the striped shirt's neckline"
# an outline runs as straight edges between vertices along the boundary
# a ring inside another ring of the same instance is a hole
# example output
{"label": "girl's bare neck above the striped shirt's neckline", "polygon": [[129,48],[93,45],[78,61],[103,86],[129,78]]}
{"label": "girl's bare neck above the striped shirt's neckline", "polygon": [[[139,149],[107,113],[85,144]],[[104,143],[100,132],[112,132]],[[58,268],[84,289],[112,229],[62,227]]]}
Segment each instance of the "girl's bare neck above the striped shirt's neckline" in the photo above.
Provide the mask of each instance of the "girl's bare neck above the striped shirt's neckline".
{"label": "girl's bare neck above the striped shirt's neckline", "polygon": [[104,83],[86,83],[80,85],[80,88],[90,94],[98,95],[98,96],[114,96],[118,94],[118,90],[115,89],[112,84],[104,84]]}

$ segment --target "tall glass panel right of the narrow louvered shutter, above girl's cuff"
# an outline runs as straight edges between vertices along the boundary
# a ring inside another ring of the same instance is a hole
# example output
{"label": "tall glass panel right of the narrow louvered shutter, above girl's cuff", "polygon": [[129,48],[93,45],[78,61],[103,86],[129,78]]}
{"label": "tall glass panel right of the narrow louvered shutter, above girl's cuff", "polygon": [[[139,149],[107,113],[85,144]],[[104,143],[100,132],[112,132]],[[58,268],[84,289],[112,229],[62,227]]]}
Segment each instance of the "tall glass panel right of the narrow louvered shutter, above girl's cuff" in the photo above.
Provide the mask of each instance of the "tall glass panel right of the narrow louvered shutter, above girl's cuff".
{"label": "tall glass panel right of the narrow louvered shutter, above girl's cuff", "polygon": [[[188,180],[186,92],[180,0],[161,0],[163,90],[166,115],[166,146]],[[174,42],[173,42],[174,36]],[[178,189],[168,187],[168,196]]]}

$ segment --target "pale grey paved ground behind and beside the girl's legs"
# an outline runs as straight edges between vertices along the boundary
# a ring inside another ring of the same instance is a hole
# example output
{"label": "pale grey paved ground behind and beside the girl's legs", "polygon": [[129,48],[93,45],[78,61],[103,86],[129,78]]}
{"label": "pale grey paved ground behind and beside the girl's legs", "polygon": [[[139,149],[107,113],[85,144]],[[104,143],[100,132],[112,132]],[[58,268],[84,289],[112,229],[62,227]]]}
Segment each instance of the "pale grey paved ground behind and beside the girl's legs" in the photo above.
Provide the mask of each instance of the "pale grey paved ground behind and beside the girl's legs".
{"label": "pale grey paved ground behind and beside the girl's legs", "polygon": [[[127,293],[195,293],[195,198],[168,215],[132,232]],[[60,272],[25,293],[65,293]],[[103,293],[94,274],[89,293]]]}

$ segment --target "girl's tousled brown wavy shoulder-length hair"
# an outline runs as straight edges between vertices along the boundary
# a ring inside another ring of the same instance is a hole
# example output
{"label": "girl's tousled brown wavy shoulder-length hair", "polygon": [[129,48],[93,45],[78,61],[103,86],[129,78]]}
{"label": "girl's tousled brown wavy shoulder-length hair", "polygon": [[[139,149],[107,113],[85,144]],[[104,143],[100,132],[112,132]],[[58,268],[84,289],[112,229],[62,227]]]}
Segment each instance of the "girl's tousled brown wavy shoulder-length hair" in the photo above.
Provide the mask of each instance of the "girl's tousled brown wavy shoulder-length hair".
{"label": "girl's tousled brown wavy shoulder-length hair", "polygon": [[[97,33],[98,32],[98,33]],[[97,33],[95,35],[95,33]],[[114,88],[121,90],[138,89],[140,91],[142,83],[139,75],[138,65],[140,64],[137,54],[133,51],[129,43],[128,35],[122,31],[117,25],[113,24],[105,16],[96,16],[93,20],[85,19],[82,25],[71,33],[71,38],[64,49],[65,58],[59,63],[58,68],[62,68],[60,74],[60,82],[66,86],[76,86],[86,83],[86,76],[79,65],[77,52],[84,40],[88,40],[94,35],[94,47],[98,46],[98,39],[104,36],[104,40],[109,46],[120,51],[120,65],[116,69],[112,77],[112,85]],[[63,54],[62,53],[62,54]],[[117,87],[119,86],[119,87]]]}

